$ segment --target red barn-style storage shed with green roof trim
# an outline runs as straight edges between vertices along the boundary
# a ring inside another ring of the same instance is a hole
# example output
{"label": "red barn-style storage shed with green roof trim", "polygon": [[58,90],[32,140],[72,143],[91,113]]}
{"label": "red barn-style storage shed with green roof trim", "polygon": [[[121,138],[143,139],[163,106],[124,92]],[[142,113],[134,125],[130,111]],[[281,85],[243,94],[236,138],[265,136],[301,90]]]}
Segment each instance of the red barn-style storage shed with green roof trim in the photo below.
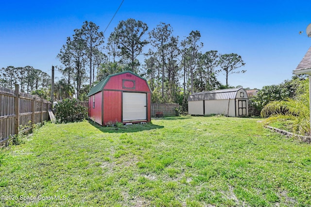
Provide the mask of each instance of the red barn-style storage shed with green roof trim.
{"label": "red barn-style storage shed with green roof trim", "polygon": [[151,120],[150,87],[132,71],[107,76],[87,96],[88,117],[102,126]]}

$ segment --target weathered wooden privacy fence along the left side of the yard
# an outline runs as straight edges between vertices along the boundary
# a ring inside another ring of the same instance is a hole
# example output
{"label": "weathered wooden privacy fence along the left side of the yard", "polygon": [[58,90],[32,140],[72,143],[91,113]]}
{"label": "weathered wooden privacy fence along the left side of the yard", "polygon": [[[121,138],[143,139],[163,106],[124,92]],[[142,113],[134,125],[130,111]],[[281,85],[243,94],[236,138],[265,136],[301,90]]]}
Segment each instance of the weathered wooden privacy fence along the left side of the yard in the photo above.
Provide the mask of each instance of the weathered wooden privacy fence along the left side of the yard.
{"label": "weathered wooden privacy fence along the left side of the yard", "polygon": [[0,87],[0,146],[8,144],[10,135],[18,134],[19,126],[31,127],[48,121],[49,108],[50,102],[19,93],[18,84],[15,90]]}

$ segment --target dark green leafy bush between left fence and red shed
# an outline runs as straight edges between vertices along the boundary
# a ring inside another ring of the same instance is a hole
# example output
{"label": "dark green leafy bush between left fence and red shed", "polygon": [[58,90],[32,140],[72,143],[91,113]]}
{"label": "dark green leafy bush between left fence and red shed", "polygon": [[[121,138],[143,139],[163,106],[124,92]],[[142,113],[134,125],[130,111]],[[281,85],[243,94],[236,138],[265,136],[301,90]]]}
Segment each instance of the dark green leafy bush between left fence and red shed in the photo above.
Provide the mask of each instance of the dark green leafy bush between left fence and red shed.
{"label": "dark green leafy bush between left fence and red shed", "polygon": [[59,123],[76,122],[87,118],[87,108],[76,99],[66,98],[55,106],[55,118]]}

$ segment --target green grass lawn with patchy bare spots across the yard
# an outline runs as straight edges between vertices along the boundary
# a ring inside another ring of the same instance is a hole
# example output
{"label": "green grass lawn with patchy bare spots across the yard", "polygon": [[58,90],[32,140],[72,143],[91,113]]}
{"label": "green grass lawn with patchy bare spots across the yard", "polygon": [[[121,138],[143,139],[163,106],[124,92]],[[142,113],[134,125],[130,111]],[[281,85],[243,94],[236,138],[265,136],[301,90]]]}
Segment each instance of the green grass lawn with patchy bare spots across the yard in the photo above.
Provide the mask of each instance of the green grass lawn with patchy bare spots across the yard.
{"label": "green grass lawn with patchy bare spots across the yard", "polygon": [[259,120],[169,117],[120,129],[46,124],[0,150],[0,205],[311,206],[311,145]]}

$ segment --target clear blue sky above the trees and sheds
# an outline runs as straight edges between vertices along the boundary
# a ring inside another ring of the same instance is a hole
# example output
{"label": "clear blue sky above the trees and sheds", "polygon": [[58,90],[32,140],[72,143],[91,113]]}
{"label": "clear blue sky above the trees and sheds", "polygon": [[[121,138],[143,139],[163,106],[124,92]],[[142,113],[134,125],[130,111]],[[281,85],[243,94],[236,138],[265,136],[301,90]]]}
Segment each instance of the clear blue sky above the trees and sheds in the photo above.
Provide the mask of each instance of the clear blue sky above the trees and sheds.
{"label": "clear blue sky above the trees and sheds", "polygon": [[[0,68],[31,65],[51,75],[66,38],[85,20],[104,31],[121,0],[12,0],[0,4]],[[237,53],[245,74],[229,76],[229,85],[262,88],[291,79],[311,38],[310,0],[124,0],[107,31],[107,40],[121,20],[134,18],[150,30],[159,22],[171,24],[184,39],[201,32],[202,52]],[[301,35],[299,31],[304,31]],[[147,36],[147,35],[146,35]],[[59,74],[56,74],[59,77]],[[218,79],[225,83],[225,76]]]}

